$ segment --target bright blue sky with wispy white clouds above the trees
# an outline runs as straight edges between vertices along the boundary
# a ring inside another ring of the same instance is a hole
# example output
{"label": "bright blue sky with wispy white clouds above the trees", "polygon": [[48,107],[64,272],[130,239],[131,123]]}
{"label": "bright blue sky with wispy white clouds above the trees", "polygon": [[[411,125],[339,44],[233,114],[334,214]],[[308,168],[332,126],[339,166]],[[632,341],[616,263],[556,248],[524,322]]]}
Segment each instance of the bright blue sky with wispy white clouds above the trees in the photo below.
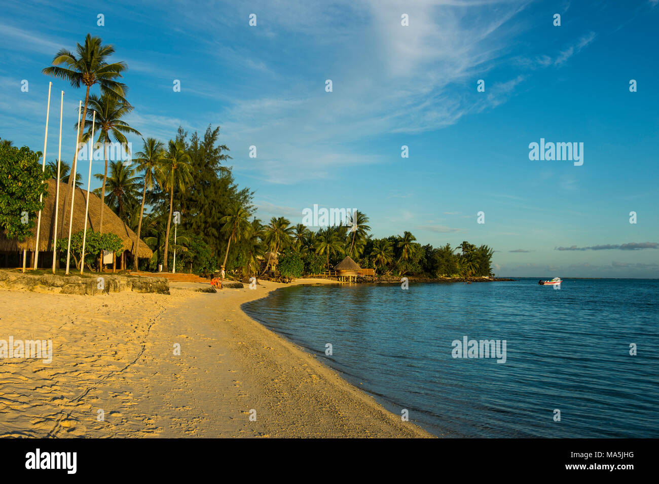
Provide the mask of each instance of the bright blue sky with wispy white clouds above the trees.
{"label": "bright blue sky with wispy white clouds above the trees", "polygon": [[[264,220],[355,207],[375,236],[488,244],[499,275],[658,277],[657,4],[9,1],[0,137],[42,150],[52,79],[41,70],[90,32],[129,65],[127,121],[165,141],[179,124],[219,124]],[[57,156],[60,90],[71,161],[84,91],[61,80],[46,158]],[[540,138],[583,142],[583,165],[531,161]]]}

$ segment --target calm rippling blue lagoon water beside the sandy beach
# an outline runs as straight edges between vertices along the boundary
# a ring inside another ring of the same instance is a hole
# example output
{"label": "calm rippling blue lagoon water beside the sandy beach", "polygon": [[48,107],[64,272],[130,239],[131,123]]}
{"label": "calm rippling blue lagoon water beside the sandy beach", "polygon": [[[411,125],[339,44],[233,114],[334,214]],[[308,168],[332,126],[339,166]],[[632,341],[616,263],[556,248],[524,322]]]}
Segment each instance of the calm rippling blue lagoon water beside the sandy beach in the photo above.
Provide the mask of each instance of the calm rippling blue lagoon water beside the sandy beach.
{"label": "calm rippling blue lagoon water beside the sandy beach", "polygon": [[[436,435],[659,437],[659,281],[538,279],[295,286],[244,309]],[[505,363],[453,358],[464,336],[505,340]]]}

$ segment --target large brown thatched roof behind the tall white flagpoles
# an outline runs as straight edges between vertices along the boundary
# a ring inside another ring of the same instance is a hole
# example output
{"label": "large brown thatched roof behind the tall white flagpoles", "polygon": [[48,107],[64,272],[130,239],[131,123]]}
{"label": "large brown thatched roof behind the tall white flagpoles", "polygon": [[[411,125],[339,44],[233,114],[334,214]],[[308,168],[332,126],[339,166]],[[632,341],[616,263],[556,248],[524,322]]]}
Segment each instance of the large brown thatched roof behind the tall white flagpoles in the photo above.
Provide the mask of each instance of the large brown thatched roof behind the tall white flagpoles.
{"label": "large brown thatched roof behind the tall white flagpoles", "polygon": [[[53,225],[55,224],[55,194],[57,191],[57,181],[55,178],[47,180],[47,196],[44,196],[45,202],[42,210],[42,223],[41,231],[39,234],[39,250],[53,250]],[[72,234],[84,230],[84,211],[87,202],[87,190],[76,188],[76,195],[74,200],[73,209],[73,224]],[[67,205],[67,212],[64,213],[64,205]],[[69,191],[69,184],[59,184],[59,214],[57,215],[57,238],[65,238],[69,236],[69,219],[71,217],[71,192]],[[87,227],[98,230],[101,219],[101,199],[90,193],[89,197],[89,212],[87,217]],[[123,240],[124,249],[133,250],[136,234],[121,220],[117,215],[105,205],[103,209],[103,232],[112,232],[117,234]],[[36,240],[36,223],[32,229],[32,236],[26,238],[23,242],[18,240],[9,240],[5,236],[5,231],[0,230],[0,250],[13,251],[13,250],[34,250],[34,242]],[[137,256],[138,257],[152,257],[153,252],[144,241],[140,240]]]}

